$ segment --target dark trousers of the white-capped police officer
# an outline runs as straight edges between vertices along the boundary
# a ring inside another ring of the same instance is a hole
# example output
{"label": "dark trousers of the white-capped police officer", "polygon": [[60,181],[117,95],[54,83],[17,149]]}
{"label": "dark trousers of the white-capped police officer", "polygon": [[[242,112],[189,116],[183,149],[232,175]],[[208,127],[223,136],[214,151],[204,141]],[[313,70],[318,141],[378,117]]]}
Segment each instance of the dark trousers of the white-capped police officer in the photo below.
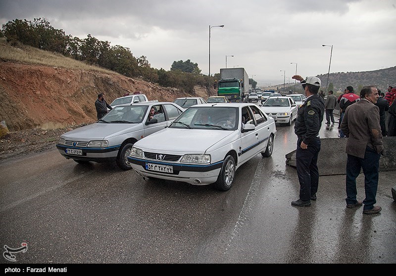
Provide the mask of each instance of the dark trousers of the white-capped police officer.
{"label": "dark trousers of the white-capped police officer", "polygon": [[297,175],[300,183],[300,200],[311,200],[316,194],[319,184],[319,170],[317,166],[320,151],[320,138],[315,138],[306,150],[301,149],[302,139],[297,139],[296,163]]}

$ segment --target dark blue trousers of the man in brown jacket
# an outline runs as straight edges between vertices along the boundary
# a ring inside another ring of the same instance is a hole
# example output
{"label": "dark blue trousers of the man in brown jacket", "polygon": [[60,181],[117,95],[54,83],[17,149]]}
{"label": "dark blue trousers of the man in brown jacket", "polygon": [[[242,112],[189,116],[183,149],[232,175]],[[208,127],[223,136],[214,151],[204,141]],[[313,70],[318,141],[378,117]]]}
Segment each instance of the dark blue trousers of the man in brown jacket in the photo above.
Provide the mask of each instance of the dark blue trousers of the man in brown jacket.
{"label": "dark blue trousers of the man in brown jacket", "polygon": [[366,198],[363,200],[363,210],[371,210],[377,202],[378,171],[380,167],[380,154],[373,149],[366,147],[364,158],[358,158],[348,154],[347,159],[347,204],[356,203],[356,178],[363,169],[364,191]]}

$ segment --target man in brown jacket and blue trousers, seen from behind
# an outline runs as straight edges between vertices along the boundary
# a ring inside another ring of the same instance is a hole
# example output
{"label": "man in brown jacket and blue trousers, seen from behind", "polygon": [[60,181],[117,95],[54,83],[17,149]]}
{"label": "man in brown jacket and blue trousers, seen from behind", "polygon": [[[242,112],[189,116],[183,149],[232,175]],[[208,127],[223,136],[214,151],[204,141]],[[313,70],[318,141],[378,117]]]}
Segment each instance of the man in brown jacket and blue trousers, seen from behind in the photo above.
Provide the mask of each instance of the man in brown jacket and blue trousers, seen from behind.
{"label": "man in brown jacket and blue trousers, seen from behind", "polygon": [[[360,101],[347,107],[341,130],[348,138],[347,159],[347,208],[362,206],[363,214],[376,214],[380,206],[374,206],[378,188],[380,156],[383,153],[380,114],[375,105],[379,98],[375,86],[365,86],[360,91]],[[356,200],[356,178],[360,169],[364,173],[364,191],[366,198]]]}

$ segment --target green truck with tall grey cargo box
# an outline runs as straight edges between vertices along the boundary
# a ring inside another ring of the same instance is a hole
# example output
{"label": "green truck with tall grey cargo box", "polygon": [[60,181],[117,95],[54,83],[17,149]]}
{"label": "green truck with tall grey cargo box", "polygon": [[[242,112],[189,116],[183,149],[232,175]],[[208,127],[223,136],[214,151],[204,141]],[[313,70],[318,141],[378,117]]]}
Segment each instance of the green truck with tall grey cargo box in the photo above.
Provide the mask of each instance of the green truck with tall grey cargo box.
{"label": "green truck with tall grey cargo box", "polygon": [[220,68],[217,96],[224,96],[231,103],[245,103],[249,95],[249,77],[245,68]]}

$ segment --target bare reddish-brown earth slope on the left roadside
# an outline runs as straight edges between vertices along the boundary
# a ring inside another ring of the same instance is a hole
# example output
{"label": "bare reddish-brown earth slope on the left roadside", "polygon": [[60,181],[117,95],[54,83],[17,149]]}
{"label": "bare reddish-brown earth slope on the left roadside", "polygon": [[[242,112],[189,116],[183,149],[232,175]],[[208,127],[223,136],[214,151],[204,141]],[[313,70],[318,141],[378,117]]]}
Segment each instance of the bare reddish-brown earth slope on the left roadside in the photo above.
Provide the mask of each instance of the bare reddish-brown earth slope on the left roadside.
{"label": "bare reddish-brown earth slope on the left roadside", "polygon": [[138,91],[158,101],[207,98],[202,87],[196,87],[195,95],[190,95],[115,73],[0,60],[0,121],[5,120],[9,130],[91,123],[96,121],[94,103],[99,93],[104,92],[110,104],[115,98]]}

